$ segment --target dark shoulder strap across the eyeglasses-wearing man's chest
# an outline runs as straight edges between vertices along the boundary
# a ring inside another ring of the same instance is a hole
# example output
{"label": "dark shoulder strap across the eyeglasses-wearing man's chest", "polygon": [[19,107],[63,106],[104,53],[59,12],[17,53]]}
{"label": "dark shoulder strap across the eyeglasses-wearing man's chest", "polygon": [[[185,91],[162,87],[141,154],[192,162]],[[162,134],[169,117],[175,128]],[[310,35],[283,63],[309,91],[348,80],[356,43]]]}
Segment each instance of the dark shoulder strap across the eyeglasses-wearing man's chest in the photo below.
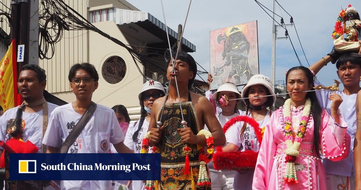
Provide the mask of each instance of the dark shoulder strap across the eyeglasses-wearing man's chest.
{"label": "dark shoulder strap across the eyeglasses-wearing man's chest", "polygon": [[87,107],[87,110],[85,110],[84,114],[82,115],[78,123],[75,125],[73,130],[70,131],[68,137],[61,145],[61,149],[59,153],[68,153],[70,146],[74,143],[74,140],[77,139],[80,132],[82,132],[83,128],[88,123],[90,117],[93,115],[95,109],[96,109],[96,104],[94,102],[91,102],[91,104]]}

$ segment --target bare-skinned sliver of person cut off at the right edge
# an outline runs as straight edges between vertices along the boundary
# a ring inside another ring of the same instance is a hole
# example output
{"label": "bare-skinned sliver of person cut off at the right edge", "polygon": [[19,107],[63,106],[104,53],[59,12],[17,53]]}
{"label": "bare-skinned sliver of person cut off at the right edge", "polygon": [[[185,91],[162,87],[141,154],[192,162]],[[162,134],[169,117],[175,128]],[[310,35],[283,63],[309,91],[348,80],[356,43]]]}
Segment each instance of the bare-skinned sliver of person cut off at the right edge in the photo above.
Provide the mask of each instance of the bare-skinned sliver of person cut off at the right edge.
{"label": "bare-skinned sliver of person cut off at the right edge", "polygon": [[356,124],[357,130],[355,142],[353,143],[353,157],[355,159],[355,179],[356,190],[361,190],[361,90],[357,93],[356,98]]}

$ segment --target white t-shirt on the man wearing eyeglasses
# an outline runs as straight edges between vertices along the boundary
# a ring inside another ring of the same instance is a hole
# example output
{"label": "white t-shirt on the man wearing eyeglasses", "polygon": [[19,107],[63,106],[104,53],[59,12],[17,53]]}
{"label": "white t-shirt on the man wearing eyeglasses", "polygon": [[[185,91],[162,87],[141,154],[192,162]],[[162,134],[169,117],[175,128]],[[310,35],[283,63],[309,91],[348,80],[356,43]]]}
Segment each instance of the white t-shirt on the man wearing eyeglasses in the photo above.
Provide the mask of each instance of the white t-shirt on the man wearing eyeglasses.
{"label": "white t-shirt on the man wearing eyeglasses", "polygon": [[[76,113],[71,103],[57,107],[51,114],[43,144],[61,147],[69,132],[82,115]],[[68,153],[109,153],[110,143],[118,144],[124,135],[114,110],[97,104],[97,108]],[[61,189],[98,190],[112,189],[112,181],[61,181]]]}

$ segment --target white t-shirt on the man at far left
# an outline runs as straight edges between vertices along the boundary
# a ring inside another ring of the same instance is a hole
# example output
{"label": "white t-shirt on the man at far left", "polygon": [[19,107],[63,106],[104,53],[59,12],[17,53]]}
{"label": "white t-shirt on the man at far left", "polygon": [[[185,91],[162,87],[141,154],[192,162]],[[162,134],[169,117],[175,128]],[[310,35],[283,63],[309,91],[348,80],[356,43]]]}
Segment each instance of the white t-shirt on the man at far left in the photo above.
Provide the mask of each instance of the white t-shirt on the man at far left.
{"label": "white t-shirt on the man at far left", "polygon": [[[52,111],[58,107],[58,105],[52,104],[48,102],[48,121]],[[6,134],[6,123],[10,119],[14,119],[16,116],[18,108],[13,107],[5,111],[4,115],[0,118],[0,140],[6,141],[9,140],[9,135]],[[22,140],[26,142],[30,140],[32,144],[35,144],[39,150],[38,153],[42,153],[42,139],[43,139],[43,110],[40,110],[36,113],[22,113],[22,121],[25,124],[24,129],[22,131]],[[3,149],[0,147],[0,149]]]}

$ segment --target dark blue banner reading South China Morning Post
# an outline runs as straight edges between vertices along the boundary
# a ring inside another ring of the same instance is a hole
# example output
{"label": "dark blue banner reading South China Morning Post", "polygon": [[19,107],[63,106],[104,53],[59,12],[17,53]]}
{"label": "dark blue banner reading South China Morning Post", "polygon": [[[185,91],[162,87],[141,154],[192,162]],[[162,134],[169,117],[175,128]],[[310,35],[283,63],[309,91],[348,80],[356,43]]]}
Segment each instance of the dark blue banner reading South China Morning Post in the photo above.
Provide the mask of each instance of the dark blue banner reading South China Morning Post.
{"label": "dark blue banner reading South China Morning Post", "polygon": [[160,180],[160,154],[10,154],[10,180]]}

